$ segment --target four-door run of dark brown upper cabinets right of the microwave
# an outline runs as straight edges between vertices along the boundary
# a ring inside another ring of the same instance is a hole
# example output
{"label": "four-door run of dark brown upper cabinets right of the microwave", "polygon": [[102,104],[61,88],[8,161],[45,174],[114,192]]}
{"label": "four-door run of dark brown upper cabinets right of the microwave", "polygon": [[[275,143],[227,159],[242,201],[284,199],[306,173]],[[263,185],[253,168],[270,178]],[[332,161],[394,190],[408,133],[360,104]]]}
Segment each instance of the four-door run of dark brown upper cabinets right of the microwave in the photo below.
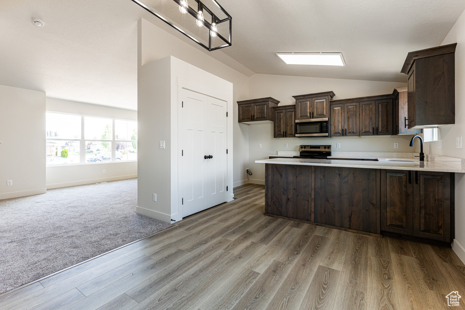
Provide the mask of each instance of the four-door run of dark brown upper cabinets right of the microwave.
{"label": "four-door run of dark brown upper cabinets right of the microwave", "polygon": [[394,91],[386,95],[331,101],[331,136],[392,135],[396,94]]}

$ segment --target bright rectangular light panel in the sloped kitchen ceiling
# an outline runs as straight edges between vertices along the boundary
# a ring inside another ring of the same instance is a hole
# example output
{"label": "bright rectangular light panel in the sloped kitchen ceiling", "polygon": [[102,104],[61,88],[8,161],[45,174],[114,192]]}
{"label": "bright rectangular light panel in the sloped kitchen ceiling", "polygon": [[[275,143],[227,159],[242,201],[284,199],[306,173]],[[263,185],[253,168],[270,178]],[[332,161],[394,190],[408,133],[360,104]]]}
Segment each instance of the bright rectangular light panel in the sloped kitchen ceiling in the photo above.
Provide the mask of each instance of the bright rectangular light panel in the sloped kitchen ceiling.
{"label": "bright rectangular light panel in the sloped kitchen ceiling", "polygon": [[345,66],[342,53],[276,53],[287,64]]}

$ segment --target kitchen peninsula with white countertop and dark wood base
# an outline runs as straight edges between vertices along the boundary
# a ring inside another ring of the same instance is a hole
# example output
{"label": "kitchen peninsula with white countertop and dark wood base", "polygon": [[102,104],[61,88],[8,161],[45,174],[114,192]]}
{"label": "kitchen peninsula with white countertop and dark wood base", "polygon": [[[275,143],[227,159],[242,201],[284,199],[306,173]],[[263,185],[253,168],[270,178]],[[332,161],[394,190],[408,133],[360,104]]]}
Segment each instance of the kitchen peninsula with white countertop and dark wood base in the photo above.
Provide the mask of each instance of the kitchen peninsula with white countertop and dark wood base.
{"label": "kitchen peninsula with white countertop and dark wood base", "polygon": [[463,159],[428,155],[420,164],[413,154],[343,157],[255,161],[265,164],[265,215],[372,235],[453,240],[454,173],[465,172]]}

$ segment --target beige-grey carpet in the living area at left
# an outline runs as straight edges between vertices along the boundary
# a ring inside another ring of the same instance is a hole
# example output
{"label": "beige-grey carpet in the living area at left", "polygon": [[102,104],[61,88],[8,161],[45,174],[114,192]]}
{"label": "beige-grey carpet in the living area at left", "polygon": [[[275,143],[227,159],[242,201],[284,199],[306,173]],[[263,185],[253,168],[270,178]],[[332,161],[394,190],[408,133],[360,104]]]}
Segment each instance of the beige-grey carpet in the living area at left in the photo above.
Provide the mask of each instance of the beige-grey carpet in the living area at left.
{"label": "beige-grey carpet in the living area at left", "polygon": [[0,200],[0,294],[171,226],[136,205],[137,179]]}

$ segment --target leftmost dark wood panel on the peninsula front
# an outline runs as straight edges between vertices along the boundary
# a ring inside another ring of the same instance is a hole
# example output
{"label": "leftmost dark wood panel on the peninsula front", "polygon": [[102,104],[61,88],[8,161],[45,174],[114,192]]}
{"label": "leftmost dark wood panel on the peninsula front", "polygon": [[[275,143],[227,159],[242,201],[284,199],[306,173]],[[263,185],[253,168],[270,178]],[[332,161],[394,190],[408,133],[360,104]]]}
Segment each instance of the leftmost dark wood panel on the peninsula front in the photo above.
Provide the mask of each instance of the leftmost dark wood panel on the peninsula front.
{"label": "leftmost dark wood panel on the peninsula front", "polygon": [[265,213],[311,220],[311,166],[265,165]]}

